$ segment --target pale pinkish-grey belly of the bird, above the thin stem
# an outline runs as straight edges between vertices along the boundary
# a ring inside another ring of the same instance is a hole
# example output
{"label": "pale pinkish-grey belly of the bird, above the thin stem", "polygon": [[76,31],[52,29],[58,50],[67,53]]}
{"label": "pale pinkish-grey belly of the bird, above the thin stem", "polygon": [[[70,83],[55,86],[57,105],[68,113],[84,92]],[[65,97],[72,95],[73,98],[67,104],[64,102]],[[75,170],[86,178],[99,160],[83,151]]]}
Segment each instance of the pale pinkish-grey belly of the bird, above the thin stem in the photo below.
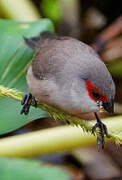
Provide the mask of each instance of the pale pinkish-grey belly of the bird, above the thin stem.
{"label": "pale pinkish-grey belly of the bird, above the thin stem", "polygon": [[87,108],[88,105],[84,105],[82,98],[75,97],[75,92],[71,93],[67,88],[65,90],[59,88],[55,80],[40,80],[34,77],[31,66],[27,72],[27,83],[31,94],[36,99],[57,109],[75,115],[97,110],[97,107],[96,109]]}

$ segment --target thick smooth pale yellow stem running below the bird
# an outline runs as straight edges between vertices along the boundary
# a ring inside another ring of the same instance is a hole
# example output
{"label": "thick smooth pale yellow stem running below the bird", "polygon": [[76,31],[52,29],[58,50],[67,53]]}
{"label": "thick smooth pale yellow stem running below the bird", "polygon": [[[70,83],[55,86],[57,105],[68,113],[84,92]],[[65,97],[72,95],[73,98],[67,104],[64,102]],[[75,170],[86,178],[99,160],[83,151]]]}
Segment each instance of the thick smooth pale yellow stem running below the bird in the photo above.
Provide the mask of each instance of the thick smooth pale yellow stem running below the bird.
{"label": "thick smooth pale yellow stem running below the bird", "polygon": [[[110,134],[122,131],[122,117],[107,118]],[[90,122],[93,125],[95,121]],[[122,140],[122,134],[117,135]],[[107,139],[113,141],[113,138]],[[121,141],[122,143],[122,141]],[[96,137],[79,127],[62,126],[0,140],[0,156],[34,157],[96,144]]]}

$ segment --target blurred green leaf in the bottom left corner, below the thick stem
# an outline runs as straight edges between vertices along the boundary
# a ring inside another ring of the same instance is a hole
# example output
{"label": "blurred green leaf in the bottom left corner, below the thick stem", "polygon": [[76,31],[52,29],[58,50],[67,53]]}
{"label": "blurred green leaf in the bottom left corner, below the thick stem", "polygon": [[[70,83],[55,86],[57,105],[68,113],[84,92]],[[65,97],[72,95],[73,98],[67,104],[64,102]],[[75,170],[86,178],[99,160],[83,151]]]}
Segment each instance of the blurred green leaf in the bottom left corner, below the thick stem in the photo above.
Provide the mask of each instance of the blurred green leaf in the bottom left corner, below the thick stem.
{"label": "blurred green leaf in the bottom left corner, below the thick stem", "polygon": [[42,162],[20,159],[0,159],[1,180],[68,180],[67,172]]}

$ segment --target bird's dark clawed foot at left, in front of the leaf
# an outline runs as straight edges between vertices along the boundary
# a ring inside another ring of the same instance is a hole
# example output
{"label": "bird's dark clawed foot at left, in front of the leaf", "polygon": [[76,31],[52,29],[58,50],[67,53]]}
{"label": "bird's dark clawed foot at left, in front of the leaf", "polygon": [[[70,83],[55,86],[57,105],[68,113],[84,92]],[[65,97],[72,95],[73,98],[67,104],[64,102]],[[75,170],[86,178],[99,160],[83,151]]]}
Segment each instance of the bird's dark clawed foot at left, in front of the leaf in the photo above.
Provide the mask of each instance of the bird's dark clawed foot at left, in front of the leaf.
{"label": "bird's dark clawed foot at left, in front of the leaf", "polygon": [[20,114],[25,114],[27,115],[29,113],[29,109],[30,109],[30,106],[31,106],[31,103],[33,103],[33,105],[35,107],[37,107],[37,102],[36,102],[36,99],[34,96],[32,96],[32,94],[26,94],[24,97],[23,97],[23,100],[21,101],[21,104],[23,105],[23,108],[20,112]]}

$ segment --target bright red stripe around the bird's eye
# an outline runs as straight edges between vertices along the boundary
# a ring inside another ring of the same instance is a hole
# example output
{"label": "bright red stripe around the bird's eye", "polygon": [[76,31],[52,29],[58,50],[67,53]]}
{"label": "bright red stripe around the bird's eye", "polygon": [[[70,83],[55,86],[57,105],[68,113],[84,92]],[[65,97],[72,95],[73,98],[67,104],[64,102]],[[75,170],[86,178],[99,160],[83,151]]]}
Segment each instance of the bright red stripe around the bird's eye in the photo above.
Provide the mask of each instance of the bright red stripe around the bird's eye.
{"label": "bright red stripe around the bird's eye", "polygon": [[100,91],[92,85],[92,83],[89,81],[89,80],[86,80],[86,85],[87,85],[87,91],[88,91],[88,94],[90,96],[90,98],[94,101],[96,101],[96,99],[93,97],[92,95],[92,90],[95,90],[98,94],[99,94],[99,98],[97,99],[98,101],[103,101],[103,102],[108,102],[108,99],[103,96]]}

